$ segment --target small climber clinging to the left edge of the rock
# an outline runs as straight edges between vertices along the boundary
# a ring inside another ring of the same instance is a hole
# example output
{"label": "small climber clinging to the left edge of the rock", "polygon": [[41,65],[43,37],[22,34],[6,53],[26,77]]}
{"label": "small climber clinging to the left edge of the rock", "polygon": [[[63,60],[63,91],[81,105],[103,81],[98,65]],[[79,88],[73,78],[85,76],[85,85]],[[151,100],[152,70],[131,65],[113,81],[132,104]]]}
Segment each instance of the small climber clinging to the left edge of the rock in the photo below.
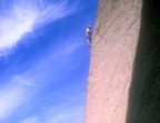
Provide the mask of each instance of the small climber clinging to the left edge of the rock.
{"label": "small climber clinging to the left edge of the rock", "polygon": [[86,38],[87,38],[87,42],[88,45],[91,45],[91,41],[92,41],[92,30],[91,30],[91,25],[88,25],[86,29]]}

